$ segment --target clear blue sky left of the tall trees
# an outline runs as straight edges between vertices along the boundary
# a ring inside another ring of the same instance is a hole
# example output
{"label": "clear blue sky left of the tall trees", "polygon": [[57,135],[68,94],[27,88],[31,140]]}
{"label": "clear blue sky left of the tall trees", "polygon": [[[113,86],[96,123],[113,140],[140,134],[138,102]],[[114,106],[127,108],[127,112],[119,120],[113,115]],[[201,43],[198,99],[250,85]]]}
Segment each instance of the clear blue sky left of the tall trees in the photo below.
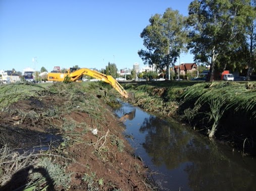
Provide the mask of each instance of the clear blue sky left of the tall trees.
{"label": "clear blue sky left of the tall trees", "polygon": [[[140,33],[167,8],[187,16],[191,0],[0,0],[0,70],[54,66],[118,69],[144,64]],[[32,58],[37,57],[36,64]],[[181,62],[193,62],[192,55]]]}

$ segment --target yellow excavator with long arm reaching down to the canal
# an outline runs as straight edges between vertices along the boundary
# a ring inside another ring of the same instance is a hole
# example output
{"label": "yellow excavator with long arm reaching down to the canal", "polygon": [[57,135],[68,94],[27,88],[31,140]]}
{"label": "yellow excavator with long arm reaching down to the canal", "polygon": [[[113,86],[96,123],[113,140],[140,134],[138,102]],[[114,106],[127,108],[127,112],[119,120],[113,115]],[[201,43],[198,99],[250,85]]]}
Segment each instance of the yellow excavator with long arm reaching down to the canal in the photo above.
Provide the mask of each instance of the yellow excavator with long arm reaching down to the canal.
{"label": "yellow excavator with long arm reaching down to the canal", "polygon": [[114,87],[124,98],[129,98],[131,95],[120,85],[120,83],[111,75],[106,75],[88,68],[69,68],[66,73],[61,73],[60,69],[48,73],[48,81],[64,81],[69,77],[70,81],[80,81],[83,75],[94,77],[98,80],[109,83]]}

